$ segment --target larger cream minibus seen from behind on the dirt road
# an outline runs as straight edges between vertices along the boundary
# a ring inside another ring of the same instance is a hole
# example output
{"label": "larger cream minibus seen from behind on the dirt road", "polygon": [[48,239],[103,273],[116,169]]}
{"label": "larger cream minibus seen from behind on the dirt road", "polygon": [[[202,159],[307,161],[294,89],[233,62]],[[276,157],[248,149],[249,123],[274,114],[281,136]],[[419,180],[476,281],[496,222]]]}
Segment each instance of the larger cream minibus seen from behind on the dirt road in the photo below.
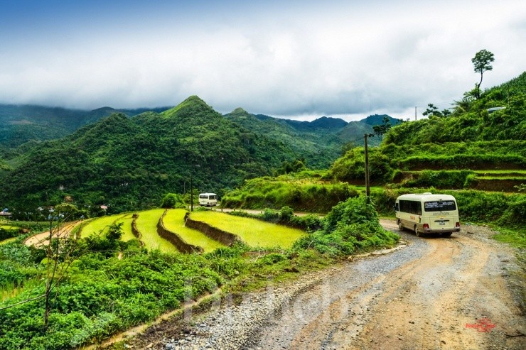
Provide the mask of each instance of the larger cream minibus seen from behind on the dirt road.
{"label": "larger cream minibus seen from behind on the dirt road", "polygon": [[451,236],[460,232],[458,207],[451,195],[401,195],[394,204],[400,230],[410,229],[414,234],[442,234]]}

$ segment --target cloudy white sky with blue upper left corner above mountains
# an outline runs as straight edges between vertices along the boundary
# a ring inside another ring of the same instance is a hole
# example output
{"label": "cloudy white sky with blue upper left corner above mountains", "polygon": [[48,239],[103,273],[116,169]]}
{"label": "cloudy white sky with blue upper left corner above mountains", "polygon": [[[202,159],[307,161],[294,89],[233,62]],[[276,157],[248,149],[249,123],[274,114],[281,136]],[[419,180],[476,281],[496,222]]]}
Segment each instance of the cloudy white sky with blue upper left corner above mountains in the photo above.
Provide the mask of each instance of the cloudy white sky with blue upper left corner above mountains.
{"label": "cloudy white sky with blue upper left corner above mountains", "polygon": [[[82,4],[81,4],[82,3]],[[526,1],[0,1],[0,103],[361,119],[526,70]]]}

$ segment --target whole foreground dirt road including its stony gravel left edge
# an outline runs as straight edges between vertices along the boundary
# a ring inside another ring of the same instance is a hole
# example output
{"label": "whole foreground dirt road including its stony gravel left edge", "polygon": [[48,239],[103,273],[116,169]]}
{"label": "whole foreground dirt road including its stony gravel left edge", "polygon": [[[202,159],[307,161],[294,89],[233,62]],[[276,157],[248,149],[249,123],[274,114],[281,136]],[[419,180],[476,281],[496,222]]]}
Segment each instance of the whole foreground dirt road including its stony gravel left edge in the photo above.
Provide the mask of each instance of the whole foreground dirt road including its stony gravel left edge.
{"label": "whole foreground dirt road including its stony gravel left edge", "polygon": [[385,255],[222,302],[165,322],[135,349],[526,349],[525,278],[515,251],[465,226]]}

